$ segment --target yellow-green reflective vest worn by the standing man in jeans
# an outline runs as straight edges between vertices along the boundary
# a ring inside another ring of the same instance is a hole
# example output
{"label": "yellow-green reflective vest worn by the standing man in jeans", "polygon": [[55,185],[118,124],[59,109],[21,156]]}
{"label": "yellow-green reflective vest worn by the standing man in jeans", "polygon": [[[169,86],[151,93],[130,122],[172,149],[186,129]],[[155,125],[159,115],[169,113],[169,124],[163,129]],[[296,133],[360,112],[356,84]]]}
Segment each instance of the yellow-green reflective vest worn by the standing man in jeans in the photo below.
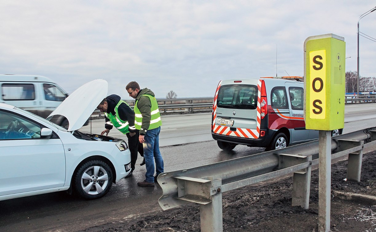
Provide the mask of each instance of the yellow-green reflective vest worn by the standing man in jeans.
{"label": "yellow-green reflective vest worn by the standing man in jeans", "polygon": [[[152,103],[152,107],[151,107],[152,117],[150,118],[149,128],[143,128],[143,130],[146,132],[146,130],[152,130],[152,129],[160,127],[162,125],[162,121],[161,121],[161,114],[159,114],[158,103],[155,97],[151,95],[147,95],[147,94],[144,94],[143,96],[147,96],[150,99],[150,102]],[[136,101],[135,107],[133,108],[133,110],[135,111],[136,130],[140,130],[141,125],[142,125],[142,114],[140,110],[137,108],[137,102],[138,100]]]}

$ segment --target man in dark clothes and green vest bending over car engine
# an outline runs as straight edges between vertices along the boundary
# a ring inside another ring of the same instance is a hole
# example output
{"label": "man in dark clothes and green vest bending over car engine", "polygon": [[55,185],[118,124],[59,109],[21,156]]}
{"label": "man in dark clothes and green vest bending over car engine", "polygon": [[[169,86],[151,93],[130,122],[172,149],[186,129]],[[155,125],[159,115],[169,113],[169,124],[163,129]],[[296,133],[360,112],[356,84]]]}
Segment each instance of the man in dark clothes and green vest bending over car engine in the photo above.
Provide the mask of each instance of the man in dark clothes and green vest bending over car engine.
{"label": "man in dark clothes and green vest bending over car engine", "polygon": [[[113,126],[128,138],[128,147],[130,151],[130,167],[132,171],[126,176],[132,176],[135,170],[135,163],[137,160],[137,151],[141,156],[144,156],[144,150],[141,143],[138,141],[138,130],[135,128],[135,113],[129,107],[127,102],[121,100],[120,96],[112,94],[107,96],[98,105],[98,110],[105,112],[106,124],[105,130],[100,133],[103,135],[110,132]],[[140,165],[145,164],[144,161]]]}

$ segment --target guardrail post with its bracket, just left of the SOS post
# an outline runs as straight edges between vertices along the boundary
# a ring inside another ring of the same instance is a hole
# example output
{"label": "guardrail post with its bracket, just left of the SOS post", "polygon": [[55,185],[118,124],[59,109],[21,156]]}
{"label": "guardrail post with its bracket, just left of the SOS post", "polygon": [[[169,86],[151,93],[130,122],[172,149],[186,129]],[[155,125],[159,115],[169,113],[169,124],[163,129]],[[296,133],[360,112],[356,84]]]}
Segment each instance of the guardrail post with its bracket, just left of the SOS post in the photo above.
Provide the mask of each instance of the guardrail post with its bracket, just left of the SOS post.
{"label": "guardrail post with its bracket, just left of the SOS post", "polygon": [[[278,169],[291,167],[305,162],[312,162],[312,156],[278,154]],[[309,190],[311,187],[311,166],[294,172],[293,176],[293,200],[291,205],[299,205],[302,208],[309,208]]]}

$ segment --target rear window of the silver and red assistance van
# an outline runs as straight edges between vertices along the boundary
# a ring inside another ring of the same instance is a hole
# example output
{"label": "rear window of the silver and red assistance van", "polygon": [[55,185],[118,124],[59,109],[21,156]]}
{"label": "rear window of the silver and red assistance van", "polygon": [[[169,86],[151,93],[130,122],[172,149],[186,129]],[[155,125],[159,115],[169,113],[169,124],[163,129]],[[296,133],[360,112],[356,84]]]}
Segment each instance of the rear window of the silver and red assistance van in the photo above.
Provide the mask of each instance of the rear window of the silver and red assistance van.
{"label": "rear window of the silver and red assistance van", "polygon": [[255,85],[221,86],[218,92],[217,107],[254,110],[257,108],[257,93],[258,89]]}

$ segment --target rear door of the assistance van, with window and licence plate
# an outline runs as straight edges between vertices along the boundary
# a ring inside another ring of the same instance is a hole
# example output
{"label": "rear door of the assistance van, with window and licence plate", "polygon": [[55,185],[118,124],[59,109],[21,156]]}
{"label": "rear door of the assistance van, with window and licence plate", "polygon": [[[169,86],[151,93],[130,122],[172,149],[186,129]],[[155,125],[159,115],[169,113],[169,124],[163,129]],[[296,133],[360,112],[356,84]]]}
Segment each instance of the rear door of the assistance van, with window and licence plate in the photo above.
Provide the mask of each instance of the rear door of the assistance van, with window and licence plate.
{"label": "rear door of the assistance van, with window and licence plate", "polygon": [[252,139],[259,137],[257,84],[257,79],[220,83],[214,102],[214,133]]}

